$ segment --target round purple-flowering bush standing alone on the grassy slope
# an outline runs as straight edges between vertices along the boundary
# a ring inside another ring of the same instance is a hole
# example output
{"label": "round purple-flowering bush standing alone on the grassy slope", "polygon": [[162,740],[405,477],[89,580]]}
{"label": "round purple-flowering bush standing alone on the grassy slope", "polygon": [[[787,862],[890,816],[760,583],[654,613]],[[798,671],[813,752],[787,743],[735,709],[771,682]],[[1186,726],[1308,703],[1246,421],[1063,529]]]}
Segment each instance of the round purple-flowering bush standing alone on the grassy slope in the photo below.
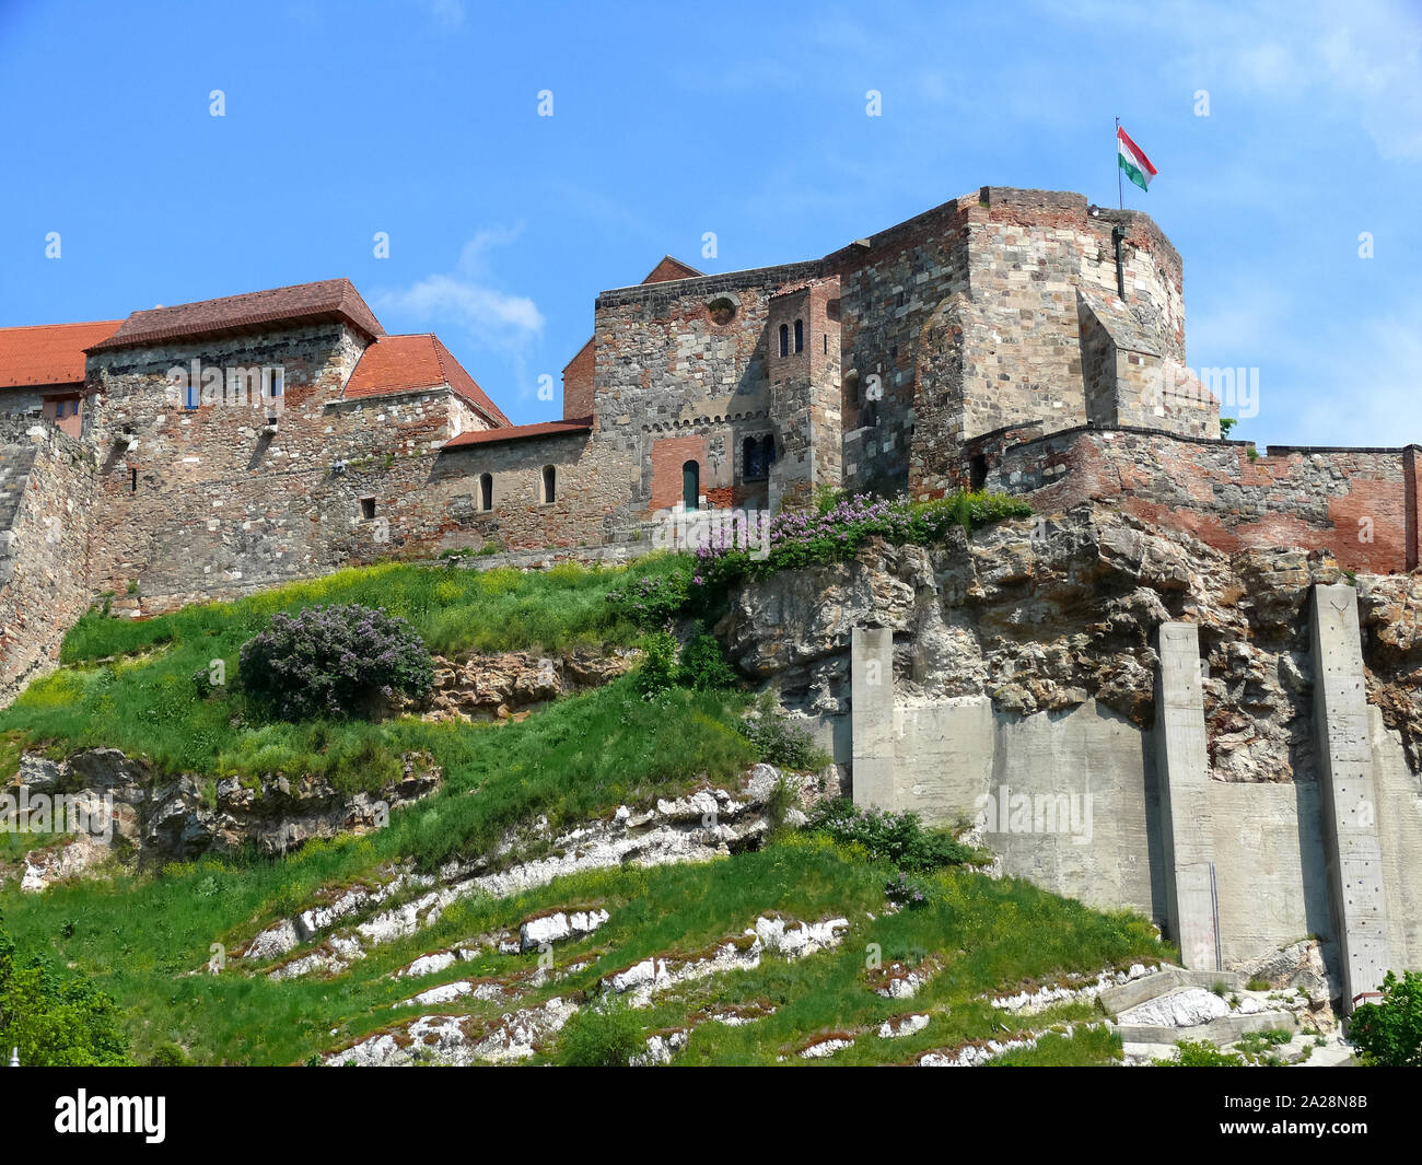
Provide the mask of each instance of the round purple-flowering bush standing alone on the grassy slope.
{"label": "round purple-flowering bush standing alone on the grassy slope", "polygon": [[277,612],[242,646],[242,686],[282,720],[370,716],[397,696],[422,698],[434,667],[404,619],[360,603]]}

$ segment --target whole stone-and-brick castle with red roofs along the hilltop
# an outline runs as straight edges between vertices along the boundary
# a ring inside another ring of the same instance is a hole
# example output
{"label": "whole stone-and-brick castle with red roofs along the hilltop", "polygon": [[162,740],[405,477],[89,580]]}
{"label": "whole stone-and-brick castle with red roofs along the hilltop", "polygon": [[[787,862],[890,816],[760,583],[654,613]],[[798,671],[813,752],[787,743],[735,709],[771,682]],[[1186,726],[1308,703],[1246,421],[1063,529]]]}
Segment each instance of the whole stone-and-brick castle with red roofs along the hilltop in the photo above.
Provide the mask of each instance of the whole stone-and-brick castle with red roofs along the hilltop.
{"label": "whole stone-and-brick castle with red roofs along the hilltop", "polygon": [[822,259],[663,259],[597,297],[563,415],[523,425],[344,279],[0,329],[0,693],[97,595],[155,613],[390,555],[633,552],[678,505],[825,486],[1098,498],[1220,549],[1413,568],[1416,448],[1221,440],[1182,280],[1143,213],[984,186]]}

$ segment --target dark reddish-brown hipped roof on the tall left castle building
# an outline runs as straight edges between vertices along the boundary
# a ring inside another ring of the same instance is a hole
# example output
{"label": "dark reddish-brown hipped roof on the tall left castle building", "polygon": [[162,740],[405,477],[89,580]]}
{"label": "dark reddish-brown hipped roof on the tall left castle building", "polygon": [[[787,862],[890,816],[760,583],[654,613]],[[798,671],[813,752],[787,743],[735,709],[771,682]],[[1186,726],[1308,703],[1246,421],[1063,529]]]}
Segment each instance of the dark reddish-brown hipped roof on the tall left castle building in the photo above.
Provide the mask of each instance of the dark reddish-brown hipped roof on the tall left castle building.
{"label": "dark reddish-brown hipped roof on the tall left castle building", "polygon": [[348,279],[326,279],[134,312],[107,340],[90,344],[90,351],[159,344],[189,336],[226,336],[273,323],[323,320],[341,320],[371,337],[385,334]]}

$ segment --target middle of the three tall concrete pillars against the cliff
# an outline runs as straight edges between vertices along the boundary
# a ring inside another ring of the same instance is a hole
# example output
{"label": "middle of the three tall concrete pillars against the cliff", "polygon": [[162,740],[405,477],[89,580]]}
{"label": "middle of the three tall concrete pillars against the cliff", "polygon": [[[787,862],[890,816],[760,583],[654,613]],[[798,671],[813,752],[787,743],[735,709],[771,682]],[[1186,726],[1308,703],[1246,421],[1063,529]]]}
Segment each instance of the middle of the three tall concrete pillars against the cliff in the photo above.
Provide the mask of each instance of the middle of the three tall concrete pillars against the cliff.
{"label": "middle of the three tall concrete pillars against the cliff", "polygon": [[1204,737],[1200,632],[1194,623],[1160,624],[1156,690],[1156,771],[1170,935],[1192,970],[1220,970],[1214,838],[1207,812],[1210,754]]}

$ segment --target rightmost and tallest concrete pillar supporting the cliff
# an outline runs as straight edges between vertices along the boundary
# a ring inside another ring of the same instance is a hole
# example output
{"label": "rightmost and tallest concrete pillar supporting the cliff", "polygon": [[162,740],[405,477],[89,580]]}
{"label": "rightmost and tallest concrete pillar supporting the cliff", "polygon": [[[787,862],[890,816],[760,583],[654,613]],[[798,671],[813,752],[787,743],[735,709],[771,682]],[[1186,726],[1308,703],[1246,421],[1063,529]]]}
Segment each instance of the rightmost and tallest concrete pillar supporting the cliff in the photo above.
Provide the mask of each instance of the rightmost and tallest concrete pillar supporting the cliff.
{"label": "rightmost and tallest concrete pillar supporting the cliff", "polygon": [[1382,986],[1392,962],[1358,593],[1344,585],[1314,586],[1313,622],[1320,801],[1347,1014],[1355,996]]}

